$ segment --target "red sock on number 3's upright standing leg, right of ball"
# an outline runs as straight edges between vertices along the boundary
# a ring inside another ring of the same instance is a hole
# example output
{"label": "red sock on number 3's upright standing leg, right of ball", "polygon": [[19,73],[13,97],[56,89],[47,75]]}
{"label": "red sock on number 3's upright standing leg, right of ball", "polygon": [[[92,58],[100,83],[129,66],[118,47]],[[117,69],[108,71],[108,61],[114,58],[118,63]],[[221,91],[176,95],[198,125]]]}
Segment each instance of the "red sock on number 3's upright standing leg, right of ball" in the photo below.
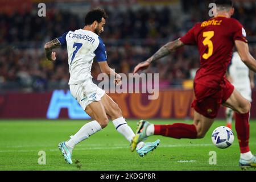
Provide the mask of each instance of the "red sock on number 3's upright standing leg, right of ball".
{"label": "red sock on number 3's upright standing leg, right of ball", "polygon": [[240,146],[241,153],[250,151],[249,137],[250,137],[250,125],[249,125],[250,112],[246,114],[236,113],[236,131],[237,138]]}

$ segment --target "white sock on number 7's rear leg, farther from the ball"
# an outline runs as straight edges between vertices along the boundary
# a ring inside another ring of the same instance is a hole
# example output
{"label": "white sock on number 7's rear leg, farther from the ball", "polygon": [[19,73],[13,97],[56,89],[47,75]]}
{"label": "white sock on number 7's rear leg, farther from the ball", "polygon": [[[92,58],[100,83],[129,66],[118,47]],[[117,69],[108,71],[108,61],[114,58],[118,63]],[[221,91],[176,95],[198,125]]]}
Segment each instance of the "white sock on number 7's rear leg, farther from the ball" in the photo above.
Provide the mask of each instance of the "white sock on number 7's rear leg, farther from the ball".
{"label": "white sock on number 7's rear leg, farther from the ball", "polygon": [[67,140],[65,144],[68,147],[74,148],[76,144],[82,142],[82,140],[85,140],[86,138],[89,138],[91,135],[100,130],[101,125],[95,120],[91,121],[82,126],[81,129],[77,131],[75,135],[70,136],[71,139]]}

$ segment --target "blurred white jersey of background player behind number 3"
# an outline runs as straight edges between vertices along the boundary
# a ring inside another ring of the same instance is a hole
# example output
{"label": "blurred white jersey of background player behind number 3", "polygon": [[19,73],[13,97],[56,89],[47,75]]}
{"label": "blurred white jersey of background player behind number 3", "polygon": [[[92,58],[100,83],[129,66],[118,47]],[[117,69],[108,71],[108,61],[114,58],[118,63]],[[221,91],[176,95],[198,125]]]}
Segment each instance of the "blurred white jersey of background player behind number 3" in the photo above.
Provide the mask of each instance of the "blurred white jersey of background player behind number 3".
{"label": "blurred white jersey of background player behind number 3", "polygon": [[232,77],[232,84],[243,97],[251,101],[249,71],[249,68],[243,63],[238,52],[234,52],[229,66],[229,75]]}

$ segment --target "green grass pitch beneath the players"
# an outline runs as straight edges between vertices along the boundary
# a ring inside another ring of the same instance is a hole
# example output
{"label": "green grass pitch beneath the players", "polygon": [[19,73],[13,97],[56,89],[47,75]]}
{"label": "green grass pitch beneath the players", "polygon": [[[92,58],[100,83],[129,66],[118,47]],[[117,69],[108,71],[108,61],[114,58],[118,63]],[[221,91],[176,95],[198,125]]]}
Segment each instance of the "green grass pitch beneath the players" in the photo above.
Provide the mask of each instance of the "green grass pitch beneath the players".
{"label": "green grass pitch beneath the players", "polygon": [[[172,171],[172,170],[241,170],[236,132],[232,146],[219,149],[212,144],[210,135],[216,121],[203,139],[172,139],[154,136],[148,142],[160,139],[160,146],[144,158],[130,152],[129,143],[113,124],[79,143],[73,151],[74,164],[67,164],[57,144],[67,140],[88,121],[0,121],[0,170],[95,170],[95,171]],[[135,120],[127,122],[135,131]],[[151,119],[150,122],[167,124],[182,122]],[[192,123],[186,121],[185,123]],[[234,129],[234,123],[233,123]],[[256,153],[256,121],[250,121],[250,147]],[[46,165],[39,165],[39,151],[46,152]],[[217,154],[217,164],[210,165],[210,151]],[[76,161],[79,163],[75,164]],[[255,170],[255,169],[250,169]]]}

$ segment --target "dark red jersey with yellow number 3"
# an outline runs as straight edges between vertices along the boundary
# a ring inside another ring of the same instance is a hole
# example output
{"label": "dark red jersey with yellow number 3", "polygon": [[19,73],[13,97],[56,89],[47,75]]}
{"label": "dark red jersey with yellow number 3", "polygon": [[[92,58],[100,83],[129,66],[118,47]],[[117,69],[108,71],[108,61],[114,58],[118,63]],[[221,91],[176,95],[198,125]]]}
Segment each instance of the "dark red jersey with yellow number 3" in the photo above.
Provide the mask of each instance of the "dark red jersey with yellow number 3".
{"label": "dark red jersey with yellow number 3", "polygon": [[197,45],[200,68],[196,72],[195,83],[210,88],[218,88],[223,84],[232,59],[234,41],[247,43],[245,29],[240,22],[224,16],[196,23],[180,40],[187,45]]}

